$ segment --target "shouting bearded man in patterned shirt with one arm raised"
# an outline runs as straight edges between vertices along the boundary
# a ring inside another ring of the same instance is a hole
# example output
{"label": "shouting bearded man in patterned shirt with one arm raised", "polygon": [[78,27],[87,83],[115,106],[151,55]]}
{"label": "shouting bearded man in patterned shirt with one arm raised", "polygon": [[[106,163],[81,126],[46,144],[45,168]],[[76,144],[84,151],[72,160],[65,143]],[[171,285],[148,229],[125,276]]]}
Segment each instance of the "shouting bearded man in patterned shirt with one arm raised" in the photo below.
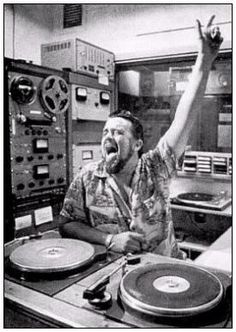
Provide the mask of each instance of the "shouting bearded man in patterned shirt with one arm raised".
{"label": "shouting bearded man in patterned shirt with one arm raised", "polygon": [[104,244],[117,252],[152,251],[181,258],[174,237],[168,185],[184,152],[222,38],[211,17],[197,20],[199,53],[169,130],[142,154],[143,131],[129,112],[111,115],[102,136],[103,159],[79,171],[61,211],[62,236]]}

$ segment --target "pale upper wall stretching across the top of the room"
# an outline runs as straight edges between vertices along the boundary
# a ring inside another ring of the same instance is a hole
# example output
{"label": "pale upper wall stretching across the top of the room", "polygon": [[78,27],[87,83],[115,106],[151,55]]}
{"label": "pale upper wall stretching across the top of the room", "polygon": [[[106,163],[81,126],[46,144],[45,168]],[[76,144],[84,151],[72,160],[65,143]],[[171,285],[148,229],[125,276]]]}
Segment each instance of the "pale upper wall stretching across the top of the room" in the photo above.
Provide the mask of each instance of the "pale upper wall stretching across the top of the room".
{"label": "pale upper wall stretching across the top of the room", "polygon": [[[109,49],[117,60],[158,55],[160,52],[193,51],[196,50],[193,28],[196,18],[206,24],[212,14],[216,15],[217,23],[223,23],[222,47],[230,47],[230,4],[83,4],[82,26],[67,29],[63,29],[62,24],[63,5],[7,6],[5,54],[33,60],[36,64],[40,64],[42,43],[68,37],[78,37]],[[185,29],[178,30],[182,28]]]}

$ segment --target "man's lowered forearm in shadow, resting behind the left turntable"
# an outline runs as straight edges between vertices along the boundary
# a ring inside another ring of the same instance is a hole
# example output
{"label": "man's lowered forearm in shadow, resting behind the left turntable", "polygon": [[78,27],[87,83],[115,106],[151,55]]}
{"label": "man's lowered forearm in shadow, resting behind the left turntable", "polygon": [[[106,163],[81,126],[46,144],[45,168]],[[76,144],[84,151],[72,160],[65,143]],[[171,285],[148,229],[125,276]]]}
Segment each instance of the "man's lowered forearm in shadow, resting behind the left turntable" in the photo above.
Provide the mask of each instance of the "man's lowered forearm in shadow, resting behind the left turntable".
{"label": "man's lowered forearm in shadow, resting behind the left turntable", "polygon": [[62,237],[79,239],[105,245],[107,233],[101,232],[81,221],[69,221],[59,227]]}

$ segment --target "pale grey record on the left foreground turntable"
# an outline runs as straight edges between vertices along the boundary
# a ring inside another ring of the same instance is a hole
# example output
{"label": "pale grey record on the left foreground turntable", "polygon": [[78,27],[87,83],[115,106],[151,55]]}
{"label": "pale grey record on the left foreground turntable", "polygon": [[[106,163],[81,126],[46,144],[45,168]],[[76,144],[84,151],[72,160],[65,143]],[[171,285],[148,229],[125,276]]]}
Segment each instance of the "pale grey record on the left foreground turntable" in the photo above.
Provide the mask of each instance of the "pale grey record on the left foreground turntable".
{"label": "pale grey record on the left foreground turntable", "polygon": [[20,271],[48,273],[69,271],[84,266],[95,254],[94,247],[72,239],[45,239],[16,248],[9,259]]}

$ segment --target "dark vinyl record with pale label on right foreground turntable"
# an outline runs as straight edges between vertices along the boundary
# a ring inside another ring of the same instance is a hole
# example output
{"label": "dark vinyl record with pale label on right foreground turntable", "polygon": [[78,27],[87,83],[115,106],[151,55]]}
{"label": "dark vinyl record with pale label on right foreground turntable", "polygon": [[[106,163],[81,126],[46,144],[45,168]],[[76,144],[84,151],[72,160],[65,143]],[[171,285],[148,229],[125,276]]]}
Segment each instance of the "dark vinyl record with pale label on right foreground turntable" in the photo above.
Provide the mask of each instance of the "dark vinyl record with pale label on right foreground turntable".
{"label": "dark vinyl record with pale label on right foreground turntable", "polygon": [[119,296],[132,310],[159,317],[189,317],[213,309],[223,297],[220,280],[190,264],[152,264],[128,272]]}

